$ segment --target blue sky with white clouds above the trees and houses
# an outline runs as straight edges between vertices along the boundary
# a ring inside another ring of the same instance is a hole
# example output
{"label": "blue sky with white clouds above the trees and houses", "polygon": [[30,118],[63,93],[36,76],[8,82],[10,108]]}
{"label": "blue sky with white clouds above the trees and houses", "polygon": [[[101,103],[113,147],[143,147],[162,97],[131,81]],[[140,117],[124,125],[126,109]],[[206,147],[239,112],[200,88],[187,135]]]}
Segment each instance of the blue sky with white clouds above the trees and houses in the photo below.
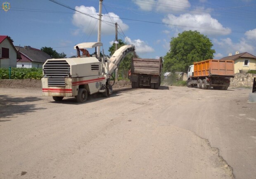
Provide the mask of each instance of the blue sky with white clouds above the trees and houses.
{"label": "blue sky with white clouds above the trees and houses", "polygon": [[[10,9],[0,10],[0,35],[10,36],[16,46],[52,47],[71,57],[76,55],[76,44],[97,41],[99,0],[55,1],[66,7],[50,0],[3,2],[9,2]],[[185,30],[207,35],[215,59],[237,51],[256,55],[256,0],[103,0],[102,4],[101,42],[107,55],[116,22],[118,38],[135,45],[141,58],[165,56],[171,38]]]}

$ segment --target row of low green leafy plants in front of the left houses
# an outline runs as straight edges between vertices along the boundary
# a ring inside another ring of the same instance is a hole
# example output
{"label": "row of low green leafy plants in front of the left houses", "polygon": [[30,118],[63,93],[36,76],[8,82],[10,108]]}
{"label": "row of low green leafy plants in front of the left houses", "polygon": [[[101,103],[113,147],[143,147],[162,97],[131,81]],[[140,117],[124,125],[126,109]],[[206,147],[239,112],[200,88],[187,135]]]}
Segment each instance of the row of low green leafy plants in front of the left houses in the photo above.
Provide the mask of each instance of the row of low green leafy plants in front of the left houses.
{"label": "row of low green leafy plants in front of the left houses", "polygon": [[[43,77],[42,68],[11,68],[11,79],[38,79]],[[9,68],[0,68],[0,79],[9,79]]]}

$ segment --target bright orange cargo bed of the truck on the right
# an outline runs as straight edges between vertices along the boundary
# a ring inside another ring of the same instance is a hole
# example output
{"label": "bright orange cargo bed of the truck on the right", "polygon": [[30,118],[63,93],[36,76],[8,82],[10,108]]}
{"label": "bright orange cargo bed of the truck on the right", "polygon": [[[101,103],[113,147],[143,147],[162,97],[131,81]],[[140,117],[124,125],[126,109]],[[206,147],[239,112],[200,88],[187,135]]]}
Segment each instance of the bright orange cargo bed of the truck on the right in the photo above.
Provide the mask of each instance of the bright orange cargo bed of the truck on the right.
{"label": "bright orange cargo bed of the truck on the right", "polygon": [[234,77],[234,61],[209,59],[194,62],[194,77],[216,75]]}

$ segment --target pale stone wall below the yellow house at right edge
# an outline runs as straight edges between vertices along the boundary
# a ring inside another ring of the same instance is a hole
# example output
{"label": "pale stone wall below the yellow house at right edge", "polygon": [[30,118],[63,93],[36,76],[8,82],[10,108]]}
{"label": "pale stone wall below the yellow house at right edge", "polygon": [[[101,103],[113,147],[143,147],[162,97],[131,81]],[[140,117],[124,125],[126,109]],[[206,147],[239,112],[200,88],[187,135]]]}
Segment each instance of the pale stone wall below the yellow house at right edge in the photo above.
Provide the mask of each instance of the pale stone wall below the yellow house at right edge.
{"label": "pale stone wall below the yellow house at right edge", "polygon": [[252,85],[254,83],[254,78],[256,78],[256,74],[236,73],[235,78],[230,79],[230,86],[233,86],[233,87],[252,87]]}

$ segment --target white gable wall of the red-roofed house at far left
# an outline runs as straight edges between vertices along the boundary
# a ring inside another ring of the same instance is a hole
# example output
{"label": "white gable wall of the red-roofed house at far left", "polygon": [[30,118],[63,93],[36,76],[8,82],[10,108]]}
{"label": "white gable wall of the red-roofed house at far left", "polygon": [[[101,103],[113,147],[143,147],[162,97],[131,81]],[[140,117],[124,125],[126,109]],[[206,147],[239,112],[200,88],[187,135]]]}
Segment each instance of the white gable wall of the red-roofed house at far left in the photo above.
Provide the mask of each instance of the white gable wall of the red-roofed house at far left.
{"label": "white gable wall of the red-roofed house at far left", "polygon": [[0,68],[16,67],[17,53],[7,38],[0,43],[0,58],[2,58],[2,47],[9,49],[9,59],[0,59]]}

